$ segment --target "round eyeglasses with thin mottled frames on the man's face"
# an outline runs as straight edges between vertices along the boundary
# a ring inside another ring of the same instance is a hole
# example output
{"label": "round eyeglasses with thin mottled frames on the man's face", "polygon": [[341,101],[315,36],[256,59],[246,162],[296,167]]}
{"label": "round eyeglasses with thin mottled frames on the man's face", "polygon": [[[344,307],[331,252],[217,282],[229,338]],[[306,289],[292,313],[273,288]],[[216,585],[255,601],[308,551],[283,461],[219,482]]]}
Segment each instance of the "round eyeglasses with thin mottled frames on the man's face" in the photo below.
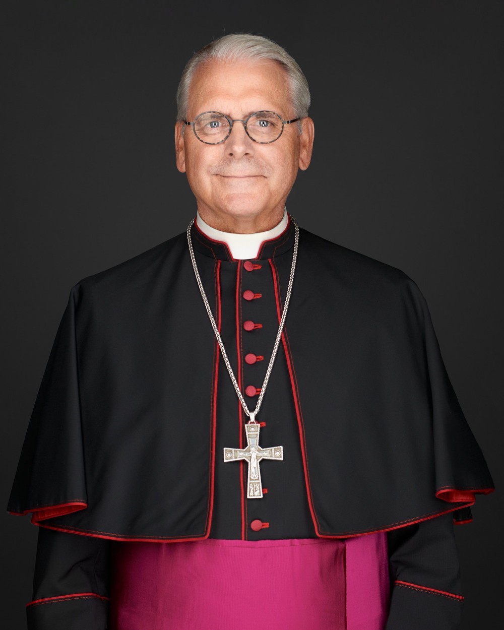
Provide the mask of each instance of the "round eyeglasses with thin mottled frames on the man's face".
{"label": "round eyeglasses with thin mottled frames on the man's face", "polygon": [[204,144],[221,144],[229,138],[232,125],[235,122],[243,122],[245,132],[248,137],[259,144],[270,144],[275,142],[282,135],[284,125],[297,122],[301,118],[283,120],[275,112],[254,112],[248,118],[232,119],[221,112],[203,112],[199,114],[193,122],[183,122],[192,125],[194,135]]}

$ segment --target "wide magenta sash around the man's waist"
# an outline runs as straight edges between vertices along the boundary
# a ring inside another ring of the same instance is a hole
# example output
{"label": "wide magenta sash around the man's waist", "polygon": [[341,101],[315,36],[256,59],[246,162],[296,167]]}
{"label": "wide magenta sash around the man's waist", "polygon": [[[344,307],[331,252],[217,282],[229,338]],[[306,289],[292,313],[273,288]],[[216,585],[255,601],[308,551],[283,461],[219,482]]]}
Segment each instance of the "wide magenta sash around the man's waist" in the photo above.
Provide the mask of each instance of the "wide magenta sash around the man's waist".
{"label": "wide magenta sash around the man's waist", "polygon": [[383,630],[386,534],[123,542],[112,630]]}

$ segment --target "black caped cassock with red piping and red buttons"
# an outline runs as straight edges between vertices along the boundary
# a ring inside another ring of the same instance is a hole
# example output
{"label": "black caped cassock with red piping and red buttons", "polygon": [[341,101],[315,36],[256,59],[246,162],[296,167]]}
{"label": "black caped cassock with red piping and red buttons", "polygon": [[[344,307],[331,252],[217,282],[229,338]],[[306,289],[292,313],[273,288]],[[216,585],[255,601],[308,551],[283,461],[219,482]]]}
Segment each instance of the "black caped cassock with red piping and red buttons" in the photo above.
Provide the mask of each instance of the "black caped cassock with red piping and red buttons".
{"label": "black caped cassock with red piping and red buttons", "polygon": [[[239,385],[255,389],[246,396],[253,409],[294,226],[249,261],[195,226],[192,240]],[[459,600],[435,594],[460,593],[451,517],[470,520],[474,494],[493,482],[408,276],[300,229],[289,314],[258,414],[261,446],[282,445],[284,461],[261,463],[260,500],[246,498],[246,464],[222,457],[246,444],[244,421],[185,234],[73,287],[8,508],[33,512],[42,526],[33,599],[53,597],[55,582],[58,594],[106,597],[109,541],[387,531],[387,630],[457,627]],[[269,526],[255,531],[253,520]],[[50,606],[28,607],[30,627],[106,627],[105,599],[64,605],[62,625]]]}

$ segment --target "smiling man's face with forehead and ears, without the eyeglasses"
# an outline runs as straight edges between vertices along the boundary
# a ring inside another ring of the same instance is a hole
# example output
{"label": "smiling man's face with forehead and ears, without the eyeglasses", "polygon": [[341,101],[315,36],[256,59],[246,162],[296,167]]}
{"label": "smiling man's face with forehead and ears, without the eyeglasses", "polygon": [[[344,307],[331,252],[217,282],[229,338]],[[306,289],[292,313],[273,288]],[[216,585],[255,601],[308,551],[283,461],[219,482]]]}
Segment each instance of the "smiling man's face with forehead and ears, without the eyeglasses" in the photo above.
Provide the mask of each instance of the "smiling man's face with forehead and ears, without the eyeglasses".
{"label": "smiling man's face with forehead and ears, without the eyeglasses", "polygon": [[[284,120],[294,118],[284,70],[267,60],[257,62],[207,62],[195,72],[190,86],[187,120],[202,112],[221,112],[245,119],[251,113],[270,110]],[[258,144],[246,134],[243,123],[233,124],[222,144],[203,144],[183,123],[175,129],[177,168],[186,173],[203,221],[237,226],[240,219],[278,217],[294,184],[297,169],[310,163],[313,123],[302,120],[284,126],[271,144]]]}

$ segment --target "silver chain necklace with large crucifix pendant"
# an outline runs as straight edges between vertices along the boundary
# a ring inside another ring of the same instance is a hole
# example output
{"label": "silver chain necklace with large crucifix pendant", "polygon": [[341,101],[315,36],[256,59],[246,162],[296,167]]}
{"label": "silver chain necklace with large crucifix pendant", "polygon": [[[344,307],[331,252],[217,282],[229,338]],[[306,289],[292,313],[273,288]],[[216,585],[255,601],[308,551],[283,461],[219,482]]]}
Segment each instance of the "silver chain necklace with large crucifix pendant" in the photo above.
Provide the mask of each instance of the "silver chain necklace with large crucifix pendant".
{"label": "silver chain necklace with large crucifix pendant", "polygon": [[232,461],[240,461],[245,460],[248,462],[248,483],[247,483],[247,498],[249,499],[260,499],[263,497],[263,488],[261,484],[261,472],[259,469],[259,462],[261,459],[284,459],[284,448],[282,446],[275,446],[269,448],[261,448],[259,445],[259,431],[260,425],[256,421],[256,415],[260,409],[261,403],[264,398],[264,394],[266,392],[266,386],[268,381],[270,380],[270,374],[273,369],[273,362],[275,362],[275,357],[277,356],[278,346],[280,345],[280,339],[282,338],[282,330],[284,329],[285,318],[287,317],[287,309],[289,308],[290,302],[290,294],[292,292],[292,282],[294,281],[294,270],[295,270],[295,261],[297,258],[297,245],[299,243],[299,227],[297,227],[297,223],[290,217],[292,222],[294,223],[295,228],[295,239],[294,239],[294,253],[292,254],[292,266],[290,267],[290,277],[289,277],[289,285],[287,286],[287,294],[285,295],[284,302],[284,310],[282,311],[282,317],[280,318],[280,325],[278,326],[277,338],[275,339],[275,345],[273,346],[272,357],[270,358],[270,363],[268,364],[268,369],[266,370],[265,379],[263,382],[263,386],[261,387],[261,392],[259,398],[257,400],[256,408],[254,411],[250,411],[245,399],[243,398],[243,394],[240,391],[238,381],[232,371],[231,364],[229,363],[229,358],[227,358],[226,349],[224,348],[224,343],[222,343],[221,334],[219,333],[219,328],[217,328],[217,324],[215,323],[214,315],[212,314],[212,310],[210,309],[209,301],[207,300],[207,295],[205,294],[205,289],[203,289],[203,283],[201,281],[200,273],[198,272],[198,266],[196,264],[196,258],[193,251],[193,245],[191,240],[191,227],[194,223],[194,219],[190,222],[187,228],[187,242],[189,244],[189,252],[191,255],[191,260],[193,263],[193,269],[196,276],[196,280],[198,282],[198,287],[200,287],[201,297],[203,298],[203,302],[205,304],[205,308],[207,309],[207,313],[210,318],[210,323],[212,324],[212,328],[214,329],[215,337],[219,342],[219,348],[221,348],[222,358],[224,358],[224,363],[227,367],[227,372],[229,372],[229,376],[231,377],[232,384],[236,391],[236,394],[239,398],[241,406],[247,416],[249,416],[250,421],[245,424],[245,431],[247,437],[247,446],[244,449],[227,449],[224,448],[224,462],[232,462]]}

